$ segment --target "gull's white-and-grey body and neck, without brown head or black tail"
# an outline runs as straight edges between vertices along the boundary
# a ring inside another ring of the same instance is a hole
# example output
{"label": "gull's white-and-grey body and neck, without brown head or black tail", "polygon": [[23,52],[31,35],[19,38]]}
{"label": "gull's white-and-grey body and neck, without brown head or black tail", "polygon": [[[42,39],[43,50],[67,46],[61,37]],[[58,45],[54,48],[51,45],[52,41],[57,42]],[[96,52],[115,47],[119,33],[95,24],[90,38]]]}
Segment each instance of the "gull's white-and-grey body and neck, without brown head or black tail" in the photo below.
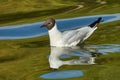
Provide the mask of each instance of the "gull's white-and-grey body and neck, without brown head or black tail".
{"label": "gull's white-and-grey body and neck, without brown head or black tail", "polygon": [[82,27],[76,30],[69,30],[60,32],[57,29],[57,25],[49,30],[49,37],[50,37],[50,46],[56,47],[71,47],[76,46],[78,43],[82,43],[86,40],[95,30],[97,27]]}

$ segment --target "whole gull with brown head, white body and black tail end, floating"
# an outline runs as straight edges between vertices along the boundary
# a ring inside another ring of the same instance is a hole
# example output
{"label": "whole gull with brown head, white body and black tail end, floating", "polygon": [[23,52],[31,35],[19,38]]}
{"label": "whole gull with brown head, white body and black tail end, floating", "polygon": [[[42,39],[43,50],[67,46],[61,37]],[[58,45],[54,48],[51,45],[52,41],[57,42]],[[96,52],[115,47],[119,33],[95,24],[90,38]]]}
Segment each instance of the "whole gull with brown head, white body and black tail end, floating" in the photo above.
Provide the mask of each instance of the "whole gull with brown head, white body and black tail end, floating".
{"label": "whole gull with brown head, white body and black tail end, floating", "polygon": [[49,18],[41,27],[46,27],[48,29],[50,37],[50,46],[56,47],[71,47],[76,46],[86,40],[96,29],[96,25],[101,22],[102,18],[99,17],[96,21],[88,26],[60,32],[57,29],[57,24],[55,19]]}

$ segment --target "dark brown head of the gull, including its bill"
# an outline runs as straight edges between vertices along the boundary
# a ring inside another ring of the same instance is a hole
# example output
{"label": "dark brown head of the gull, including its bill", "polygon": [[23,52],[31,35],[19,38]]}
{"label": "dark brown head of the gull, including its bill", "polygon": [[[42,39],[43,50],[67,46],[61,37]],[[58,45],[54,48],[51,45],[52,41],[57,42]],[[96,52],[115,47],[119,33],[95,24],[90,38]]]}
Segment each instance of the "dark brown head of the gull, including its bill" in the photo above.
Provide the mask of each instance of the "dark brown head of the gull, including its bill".
{"label": "dark brown head of the gull, including its bill", "polygon": [[42,27],[46,27],[48,30],[51,30],[55,25],[55,19],[53,18],[49,18],[42,26]]}

